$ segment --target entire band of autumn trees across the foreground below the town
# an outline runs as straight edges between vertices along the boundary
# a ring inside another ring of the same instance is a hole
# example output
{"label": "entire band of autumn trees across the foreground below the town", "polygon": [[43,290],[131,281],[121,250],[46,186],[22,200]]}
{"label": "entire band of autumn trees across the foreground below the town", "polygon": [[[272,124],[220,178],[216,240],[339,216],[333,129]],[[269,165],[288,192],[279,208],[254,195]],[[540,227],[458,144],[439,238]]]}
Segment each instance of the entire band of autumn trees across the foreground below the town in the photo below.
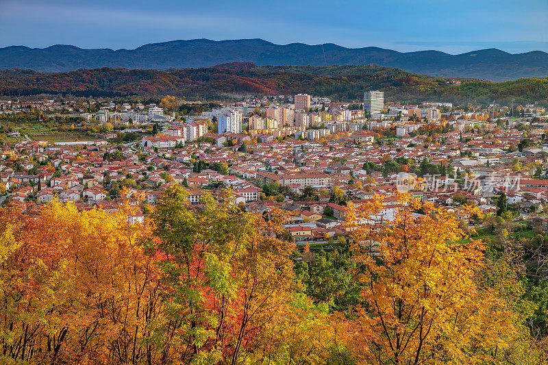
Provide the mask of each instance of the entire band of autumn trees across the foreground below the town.
{"label": "entire band of autumn trees across the foreground below the town", "polygon": [[3,207],[0,362],[545,362],[517,273],[444,210],[410,201],[379,229],[381,201],[349,203],[340,253],[314,257],[282,212],[220,200],[171,186],[134,224],[127,202]]}

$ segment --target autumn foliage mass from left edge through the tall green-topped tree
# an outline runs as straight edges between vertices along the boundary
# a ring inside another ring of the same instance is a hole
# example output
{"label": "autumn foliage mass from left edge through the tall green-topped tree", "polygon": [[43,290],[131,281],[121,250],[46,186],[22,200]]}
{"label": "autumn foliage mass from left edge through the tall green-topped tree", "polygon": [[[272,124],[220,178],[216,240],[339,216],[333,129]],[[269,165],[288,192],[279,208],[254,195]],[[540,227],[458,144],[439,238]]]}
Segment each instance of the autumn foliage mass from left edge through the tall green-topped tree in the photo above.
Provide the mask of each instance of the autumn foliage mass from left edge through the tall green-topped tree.
{"label": "autumn foliage mass from left edge through the tall green-topped tree", "polygon": [[128,205],[2,210],[2,362],[319,362],[325,315],[294,289],[275,220],[228,202],[196,213],[168,190],[146,225]]}

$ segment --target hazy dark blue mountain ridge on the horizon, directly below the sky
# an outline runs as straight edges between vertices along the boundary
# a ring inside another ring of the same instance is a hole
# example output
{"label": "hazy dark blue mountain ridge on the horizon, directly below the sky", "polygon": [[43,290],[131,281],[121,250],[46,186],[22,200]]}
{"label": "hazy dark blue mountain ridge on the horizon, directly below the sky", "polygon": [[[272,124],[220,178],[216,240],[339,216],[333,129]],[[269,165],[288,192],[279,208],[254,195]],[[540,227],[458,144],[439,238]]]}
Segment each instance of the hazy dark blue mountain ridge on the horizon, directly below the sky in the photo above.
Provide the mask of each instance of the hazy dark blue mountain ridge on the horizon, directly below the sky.
{"label": "hazy dark blue mountain ridge on the horizon, directly below the sky", "polygon": [[460,55],[440,51],[402,53],[377,47],[350,49],[332,43],[275,45],[262,39],[173,40],[119,50],[81,49],[70,45],[43,49],[0,48],[0,68],[40,72],[102,67],[165,70],[211,67],[231,62],[253,62],[259,66],[377,64],[425,75],[493,81],[548,76],[548,53],[542,51],[511,54],[499,49],[482,49]]}

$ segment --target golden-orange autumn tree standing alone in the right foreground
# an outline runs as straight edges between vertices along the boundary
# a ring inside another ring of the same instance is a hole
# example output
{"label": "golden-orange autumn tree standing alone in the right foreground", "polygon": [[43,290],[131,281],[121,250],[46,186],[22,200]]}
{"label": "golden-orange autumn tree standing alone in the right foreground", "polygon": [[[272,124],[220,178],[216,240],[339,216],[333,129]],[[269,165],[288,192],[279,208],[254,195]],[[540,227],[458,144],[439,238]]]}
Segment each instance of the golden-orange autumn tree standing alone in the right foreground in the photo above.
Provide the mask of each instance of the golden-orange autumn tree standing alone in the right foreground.
{"label": "golden-orange autumn tree standing alone in the right foreground", "polygon": [[[476,281],[479,240],[462,240],[449,212],[403,199],[381,222],[378,199],[351,205],[347,221],[364,305],[344,323],[360,364],[490,363],[506,349],[514,314]],[[417,214],[416,212],[421,212]]]}

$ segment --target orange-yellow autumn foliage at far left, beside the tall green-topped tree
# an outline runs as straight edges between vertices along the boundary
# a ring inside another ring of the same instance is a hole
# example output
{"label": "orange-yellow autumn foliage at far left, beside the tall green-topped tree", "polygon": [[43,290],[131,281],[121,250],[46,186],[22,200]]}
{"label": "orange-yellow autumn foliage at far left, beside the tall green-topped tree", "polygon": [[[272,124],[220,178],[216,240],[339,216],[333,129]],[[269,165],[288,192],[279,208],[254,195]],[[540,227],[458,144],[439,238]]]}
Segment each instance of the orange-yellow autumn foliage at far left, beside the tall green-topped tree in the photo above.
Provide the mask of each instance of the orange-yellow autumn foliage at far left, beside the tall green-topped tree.
{"label": "orange-yellow autumn foliage at far left, beside the tall green-topped tree", "polygon": [[162,347],[148,340],[162,313],[160,272],[131,211],[78,212],[58,201],[1,210],[3,362],[161,363]]}

